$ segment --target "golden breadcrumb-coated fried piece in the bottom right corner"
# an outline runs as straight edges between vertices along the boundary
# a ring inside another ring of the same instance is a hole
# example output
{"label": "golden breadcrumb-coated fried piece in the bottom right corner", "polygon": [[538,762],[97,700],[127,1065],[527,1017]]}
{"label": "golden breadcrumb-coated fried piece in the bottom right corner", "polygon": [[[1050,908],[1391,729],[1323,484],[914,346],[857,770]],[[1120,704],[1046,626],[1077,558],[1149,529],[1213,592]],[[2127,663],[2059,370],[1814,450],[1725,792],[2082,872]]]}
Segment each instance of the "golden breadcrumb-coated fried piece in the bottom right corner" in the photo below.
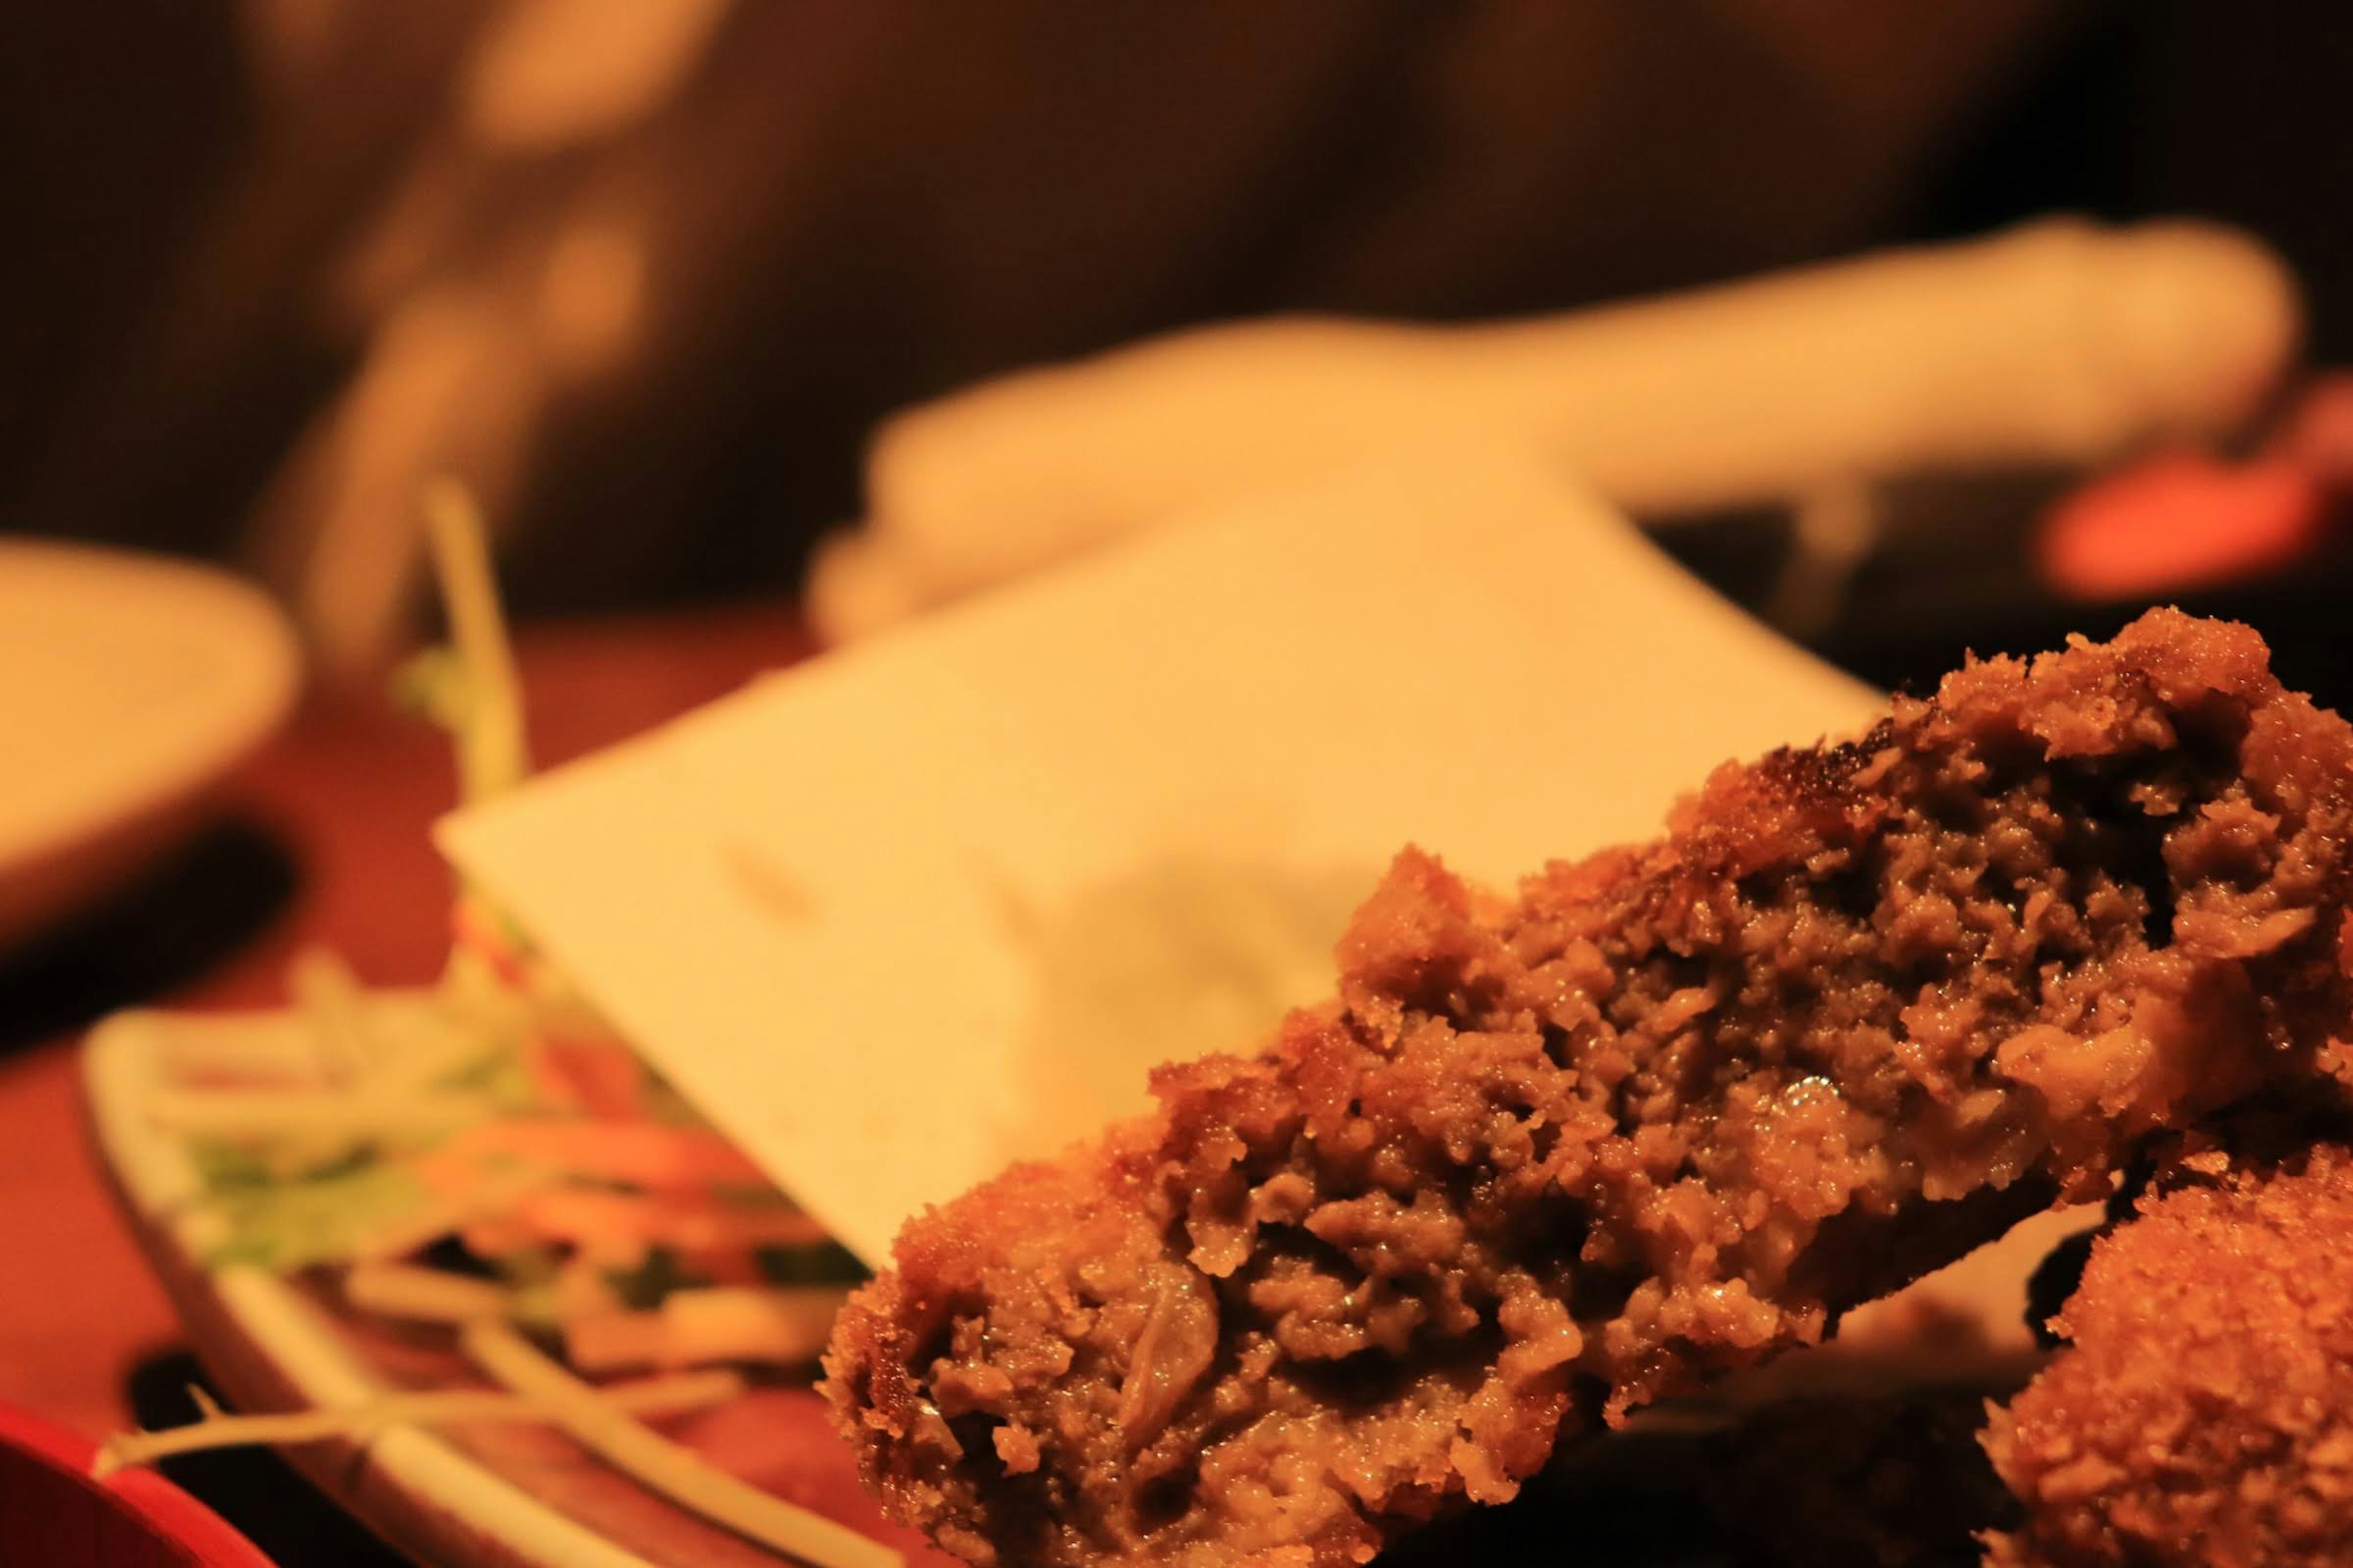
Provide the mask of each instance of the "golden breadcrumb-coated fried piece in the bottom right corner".
{"label": "golden breadcrumb-coated fried piece in the bottom right corner", "polygon": [[1998,1568],[2353,1561],[2353,1154],[2146,1199],[2092,1244],[2073,1340],[1986,1453]]}

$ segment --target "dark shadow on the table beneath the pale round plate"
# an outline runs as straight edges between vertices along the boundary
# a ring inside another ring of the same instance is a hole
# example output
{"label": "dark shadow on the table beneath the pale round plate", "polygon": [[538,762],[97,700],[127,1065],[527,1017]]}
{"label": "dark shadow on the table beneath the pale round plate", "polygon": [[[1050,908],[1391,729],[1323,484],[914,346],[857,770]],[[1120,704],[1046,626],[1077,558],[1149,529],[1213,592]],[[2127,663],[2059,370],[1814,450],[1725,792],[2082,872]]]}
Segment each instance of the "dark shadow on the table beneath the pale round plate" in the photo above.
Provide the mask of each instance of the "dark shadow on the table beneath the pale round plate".
{"label": "dark shadow on the table beneath the pale round plate", "polygon": [[0,952],[0,1051],[191,985],[261,936],[296,882],[294,856],[259,823],[205,827],[104,903]]}

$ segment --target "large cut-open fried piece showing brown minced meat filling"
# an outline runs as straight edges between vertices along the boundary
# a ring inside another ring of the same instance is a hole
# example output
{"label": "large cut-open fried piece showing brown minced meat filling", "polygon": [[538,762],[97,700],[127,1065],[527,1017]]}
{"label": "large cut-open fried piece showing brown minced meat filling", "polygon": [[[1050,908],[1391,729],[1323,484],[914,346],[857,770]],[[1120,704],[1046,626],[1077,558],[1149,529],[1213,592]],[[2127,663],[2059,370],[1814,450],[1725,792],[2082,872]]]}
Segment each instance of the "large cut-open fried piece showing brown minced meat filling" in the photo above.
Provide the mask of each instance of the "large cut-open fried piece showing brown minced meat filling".
{"label": "large cut-open fried piece showing brown minced meat filling", "polygon": [[1407,851],[1266,1053],[911,1220],[826,1392],[972,1563],[1360,1563],[2332,1081],[2348,790],[2254,632],[2155,611],[1515,900]]}

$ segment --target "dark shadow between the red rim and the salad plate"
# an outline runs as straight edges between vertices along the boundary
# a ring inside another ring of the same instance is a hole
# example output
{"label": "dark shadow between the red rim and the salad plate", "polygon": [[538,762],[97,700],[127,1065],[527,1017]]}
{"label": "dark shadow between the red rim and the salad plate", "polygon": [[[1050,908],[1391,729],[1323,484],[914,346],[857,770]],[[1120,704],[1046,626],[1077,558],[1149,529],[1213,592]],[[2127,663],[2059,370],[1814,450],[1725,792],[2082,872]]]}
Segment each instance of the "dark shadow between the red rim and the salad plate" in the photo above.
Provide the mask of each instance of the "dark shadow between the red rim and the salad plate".
{"label": "dark shadow between the red rim and the salad plate", "polygon": [[[127,1394],[141,1427],[181,1427],[198,1418],[195,1385],[216,1394],[188,1352],[158,1352],[129,1371]],[[165,1460],[158,1469],[245,1530],[278,1563],[405,1568],[400,1556],[327,1502],[301,1472],[268,1448],[219,1448]]]}

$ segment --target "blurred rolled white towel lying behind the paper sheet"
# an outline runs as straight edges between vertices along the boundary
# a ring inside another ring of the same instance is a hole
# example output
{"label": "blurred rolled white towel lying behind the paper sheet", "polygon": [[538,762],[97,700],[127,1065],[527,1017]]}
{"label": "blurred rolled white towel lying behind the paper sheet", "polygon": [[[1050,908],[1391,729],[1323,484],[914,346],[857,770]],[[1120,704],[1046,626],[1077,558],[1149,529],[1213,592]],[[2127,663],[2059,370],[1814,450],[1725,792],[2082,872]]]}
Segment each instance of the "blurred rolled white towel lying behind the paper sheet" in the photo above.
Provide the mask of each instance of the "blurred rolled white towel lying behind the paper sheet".
{"label": "blurred rolled white towel lying behind the paper sheet", "polygon": [[911,409],[809,583],[847,639],[1174,515],[1433,435],[1522,440],[1642,515],[2247,421],[2297,289],[2209,223],[2045,221],[1482,327],[1202,327]]}

